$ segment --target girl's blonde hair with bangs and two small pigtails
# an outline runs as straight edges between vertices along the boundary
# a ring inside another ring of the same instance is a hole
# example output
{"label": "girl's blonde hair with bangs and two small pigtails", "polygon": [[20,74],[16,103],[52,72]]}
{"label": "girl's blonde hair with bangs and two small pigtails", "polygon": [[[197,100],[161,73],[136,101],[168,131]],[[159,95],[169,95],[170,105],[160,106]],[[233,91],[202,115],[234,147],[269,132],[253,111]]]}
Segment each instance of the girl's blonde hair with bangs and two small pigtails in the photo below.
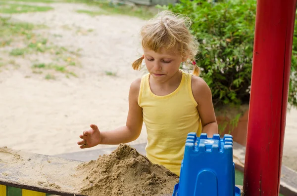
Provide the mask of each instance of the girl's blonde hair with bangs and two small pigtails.
{"label": "girl's blonde hair with bangs and two small pigtails", "polygon": [[[194,62],[193,74],[199,76],[200,69],[195,63],[198,42],[189,30],[191,24],[188,17],[162,11],[141,29],[142,46],[157,53],[161,48],[177,50],[183,58]],[[134,70],[140,70],[143,58],[144,56],[133,62]]]}

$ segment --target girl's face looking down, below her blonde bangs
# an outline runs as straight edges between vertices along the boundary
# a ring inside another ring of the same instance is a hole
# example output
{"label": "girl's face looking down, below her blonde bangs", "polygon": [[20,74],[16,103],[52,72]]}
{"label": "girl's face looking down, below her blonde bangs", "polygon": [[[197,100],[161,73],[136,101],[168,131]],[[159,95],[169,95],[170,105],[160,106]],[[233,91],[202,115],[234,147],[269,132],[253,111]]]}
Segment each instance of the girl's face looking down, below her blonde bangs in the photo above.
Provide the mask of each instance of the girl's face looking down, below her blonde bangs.
{"label": "girl's face looking down, below her blonde bangs", "polygon": [[158,82],[172,78],[178,71],[181,62],[185,61],[181,54],[173,50],[161,49],[160,53],[144,49],[148,72]]}

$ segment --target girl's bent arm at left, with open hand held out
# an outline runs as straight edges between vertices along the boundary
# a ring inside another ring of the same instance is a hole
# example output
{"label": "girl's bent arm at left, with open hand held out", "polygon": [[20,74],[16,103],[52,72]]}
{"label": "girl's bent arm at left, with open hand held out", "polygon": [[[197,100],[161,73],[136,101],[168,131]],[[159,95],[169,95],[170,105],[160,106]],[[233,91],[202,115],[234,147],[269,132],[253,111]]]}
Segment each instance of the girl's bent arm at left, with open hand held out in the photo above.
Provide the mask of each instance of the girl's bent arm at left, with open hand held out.
{"label": "girl's bent arm at left, with open hand held out", "polygon": [[129,143],[139,137],[143,125],[142,108],[138,105],[140,82],[141,79],[137,79],[130,86],[129,112],[126,125],[114,130],[101,132],[97,125],[91,124],[92,129],[84,131],[80,135],[80,138],[83,139],[77,143],[81,145],[80,148],[91,148],[99,144],[117,145]]}

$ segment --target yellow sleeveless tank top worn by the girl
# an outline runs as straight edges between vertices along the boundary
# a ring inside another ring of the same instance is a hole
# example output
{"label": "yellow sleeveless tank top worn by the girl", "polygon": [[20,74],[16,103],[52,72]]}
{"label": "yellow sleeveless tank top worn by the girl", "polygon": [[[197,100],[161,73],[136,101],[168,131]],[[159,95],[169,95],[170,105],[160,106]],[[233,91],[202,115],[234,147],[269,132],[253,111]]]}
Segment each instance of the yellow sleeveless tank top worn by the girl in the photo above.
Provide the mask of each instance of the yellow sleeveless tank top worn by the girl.
{"label": "yellow sleeveless tank top worn by the girl", "polygon": [[149,76],[148,73],[142,77],[138,97],[147,127],[147,157],[152,163],[180,175],[187,135],[196,132],[199,136],[202,127],[192,93],[192,75],[182,71],[178,88],[165,96],[152,93]]}

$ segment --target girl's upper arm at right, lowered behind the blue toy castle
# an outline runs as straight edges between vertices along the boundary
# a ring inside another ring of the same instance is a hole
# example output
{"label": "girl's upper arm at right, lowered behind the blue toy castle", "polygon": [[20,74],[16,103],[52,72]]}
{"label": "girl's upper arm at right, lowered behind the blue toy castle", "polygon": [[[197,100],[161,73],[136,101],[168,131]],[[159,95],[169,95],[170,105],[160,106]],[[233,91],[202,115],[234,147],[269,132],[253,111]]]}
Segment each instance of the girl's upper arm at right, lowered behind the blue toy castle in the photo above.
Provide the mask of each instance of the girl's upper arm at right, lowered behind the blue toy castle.
{"label": "girl's upper arm at right, lowered behind the blue toy castle", "polygon": [[207,133],[207,137],[212,137],[218,133],[218,124],[212,104],[212,95],[207,83],[199,77],[192,77],[192,91],[196,102],[197,109],[201,118],[202,132]]}

